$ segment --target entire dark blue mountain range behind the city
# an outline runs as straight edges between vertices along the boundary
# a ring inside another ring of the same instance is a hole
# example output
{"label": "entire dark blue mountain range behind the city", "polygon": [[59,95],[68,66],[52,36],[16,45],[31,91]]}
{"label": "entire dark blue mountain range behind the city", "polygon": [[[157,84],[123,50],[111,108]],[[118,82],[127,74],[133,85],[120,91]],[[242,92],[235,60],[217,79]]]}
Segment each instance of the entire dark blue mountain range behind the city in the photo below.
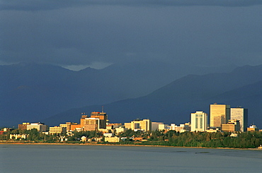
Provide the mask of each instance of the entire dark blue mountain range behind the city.
{"label": "entire dark blue mountain range behind the city", "polygon": [[35,63],[0,66],[0,126],[78,122],[81,112],[101,111],[102,105],[112,122],[150,118],[179,124],[189,121],[190,112],[208,112],[213,102],[249,108],[250,122],[258,125],[261,72],[262,66],[182,68],[150,62],[81,71]]}

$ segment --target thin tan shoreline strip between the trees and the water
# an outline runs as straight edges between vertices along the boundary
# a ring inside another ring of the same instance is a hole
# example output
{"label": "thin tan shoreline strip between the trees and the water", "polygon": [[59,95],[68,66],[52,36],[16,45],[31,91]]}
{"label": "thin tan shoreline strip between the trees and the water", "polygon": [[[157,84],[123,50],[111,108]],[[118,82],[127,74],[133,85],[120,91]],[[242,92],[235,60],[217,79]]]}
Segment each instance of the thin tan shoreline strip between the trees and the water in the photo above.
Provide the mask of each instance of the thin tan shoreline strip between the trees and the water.
{"label": "thin tan shoreline strip between the trees and the water", "polygon": [[203,149],[225,149],[225,150],[261,150],[260,148],[207,148],[207,147],[181,147],[168,145],[135,145],[135,144],[102,144],[102,143],[6,143],[0,145],[101,145],[101,146],[129,146],[129,147],[161,147],[161,148],[203,148]]}

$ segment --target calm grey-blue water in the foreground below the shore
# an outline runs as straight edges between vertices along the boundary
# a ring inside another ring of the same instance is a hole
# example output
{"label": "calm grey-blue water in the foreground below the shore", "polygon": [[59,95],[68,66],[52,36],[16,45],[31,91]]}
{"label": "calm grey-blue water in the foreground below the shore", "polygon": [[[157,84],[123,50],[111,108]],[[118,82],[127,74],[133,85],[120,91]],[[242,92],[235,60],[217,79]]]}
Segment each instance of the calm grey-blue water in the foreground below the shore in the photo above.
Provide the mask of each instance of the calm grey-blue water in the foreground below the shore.
{"label": "calm grey-blue water in the foreground below the shore", "polygon": [[262,150],[0,145],[0,172],[262,172]]}

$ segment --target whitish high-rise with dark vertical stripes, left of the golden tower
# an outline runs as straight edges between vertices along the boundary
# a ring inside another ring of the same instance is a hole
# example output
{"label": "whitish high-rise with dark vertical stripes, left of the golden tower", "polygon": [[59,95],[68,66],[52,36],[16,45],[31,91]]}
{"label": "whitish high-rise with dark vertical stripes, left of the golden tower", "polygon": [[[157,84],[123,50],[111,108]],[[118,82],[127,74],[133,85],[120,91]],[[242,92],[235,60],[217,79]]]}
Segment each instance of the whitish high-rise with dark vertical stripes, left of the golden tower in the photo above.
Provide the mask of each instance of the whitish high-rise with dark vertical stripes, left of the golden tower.
{"label": "whitish high-rise with dark vertical stripes, left of the golden tower", "polygon": [[191,113],[191,131],[207,130],[207,114],[203,111]]}

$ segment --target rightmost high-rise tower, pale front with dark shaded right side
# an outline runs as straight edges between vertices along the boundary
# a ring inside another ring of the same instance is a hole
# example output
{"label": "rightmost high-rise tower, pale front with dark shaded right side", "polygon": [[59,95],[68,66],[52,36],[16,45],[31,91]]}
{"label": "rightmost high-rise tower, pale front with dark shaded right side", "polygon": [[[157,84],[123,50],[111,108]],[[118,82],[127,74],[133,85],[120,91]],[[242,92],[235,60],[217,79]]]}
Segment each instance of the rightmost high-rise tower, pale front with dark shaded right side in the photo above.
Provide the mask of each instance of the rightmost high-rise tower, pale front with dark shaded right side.
{"label": "rightmost high-rise tower, pale front with dark shaded right side", "polygon": [[248,126],[248,109],[237,107],[230,109],[230,119],[239,120],[240,131],[246,131]]}

